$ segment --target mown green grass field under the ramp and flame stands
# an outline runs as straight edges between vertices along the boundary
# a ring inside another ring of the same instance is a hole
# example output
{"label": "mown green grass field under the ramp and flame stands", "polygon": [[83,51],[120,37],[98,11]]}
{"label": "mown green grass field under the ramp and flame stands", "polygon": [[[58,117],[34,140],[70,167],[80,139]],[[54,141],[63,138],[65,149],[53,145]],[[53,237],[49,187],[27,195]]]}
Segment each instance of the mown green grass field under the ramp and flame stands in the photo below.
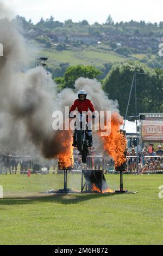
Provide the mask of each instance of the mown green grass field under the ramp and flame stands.
{"label": "mown green grass field under the ramp and flame stands", "polygon": [[[105,175],[118,188],[119,175]],[[68,187],[80,189],[80,175]],[[161,245],[163,175],[124,175],[137,194],[44,194],[63,175],[0,175],[1,245]]]}

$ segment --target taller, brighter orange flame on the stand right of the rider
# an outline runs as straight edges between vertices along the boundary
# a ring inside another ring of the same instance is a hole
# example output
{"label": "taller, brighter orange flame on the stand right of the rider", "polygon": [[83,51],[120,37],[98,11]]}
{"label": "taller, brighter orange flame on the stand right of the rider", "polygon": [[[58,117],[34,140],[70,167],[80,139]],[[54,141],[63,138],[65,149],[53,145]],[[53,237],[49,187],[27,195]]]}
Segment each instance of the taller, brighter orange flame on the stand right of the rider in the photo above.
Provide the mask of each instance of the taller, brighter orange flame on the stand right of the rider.
{"label": "taller, brighter orange flame on the stand right of the rider", "polygon": [[111,132],[108,136],[102,136],[104,150],[114,159],[115,166],[121,166],[126,162],[127,141],[123,134],[119,132],[123,124],[123,118],[116,112],[111,115]]}

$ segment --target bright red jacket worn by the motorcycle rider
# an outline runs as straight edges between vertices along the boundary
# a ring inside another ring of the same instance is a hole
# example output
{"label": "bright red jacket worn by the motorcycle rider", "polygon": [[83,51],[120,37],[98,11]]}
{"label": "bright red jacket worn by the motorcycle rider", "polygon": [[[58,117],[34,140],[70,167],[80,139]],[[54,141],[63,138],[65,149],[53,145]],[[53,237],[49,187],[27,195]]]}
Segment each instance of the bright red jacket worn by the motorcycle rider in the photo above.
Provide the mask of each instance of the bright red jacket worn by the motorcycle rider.
{"label": "bright red jacket worn by the motorcycle rider", "polygon": [[82,111],[88,111],[89,109],[91,110],[91,112],[95,111],[95,108],[90,99],[84,99],[83,101],[80,99],[76,99],[71,106],[70,112],[76,110],[76,108],[80,114],[82,114]]}

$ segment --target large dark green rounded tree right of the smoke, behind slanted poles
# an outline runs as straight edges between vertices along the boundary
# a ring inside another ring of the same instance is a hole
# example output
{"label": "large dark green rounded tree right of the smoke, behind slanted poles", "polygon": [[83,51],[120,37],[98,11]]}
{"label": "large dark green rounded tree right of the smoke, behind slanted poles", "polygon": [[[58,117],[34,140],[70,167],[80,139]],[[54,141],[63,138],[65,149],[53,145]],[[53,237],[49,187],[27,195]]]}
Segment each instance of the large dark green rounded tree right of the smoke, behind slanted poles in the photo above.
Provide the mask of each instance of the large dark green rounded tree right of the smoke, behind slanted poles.
{"label": "large dark green rounded tree right of the smoke, behind slanted poles", "polygon": [[[127,62],[123,65],[118,64],[117,66],[112,67],[109,74],[104,79],[104,91],[109,94],[109,98],[118,100],[121,115],[124,116],[126,113],[131,81],[133,79],[134,72],[145,74],[136,75],[138,112],[161,111],[161,106],[156,106],[156,104],[158,101],[157,97],[160,97],[162,89],[155,90],[155,87],[158,85],[159,88],[162,88],[163,72],[161,73],[162,80],[160,81],[155,70],[148,68],[148,66],[140,62]],[[128,115],[135,115],[134,90],[131,94]]]}

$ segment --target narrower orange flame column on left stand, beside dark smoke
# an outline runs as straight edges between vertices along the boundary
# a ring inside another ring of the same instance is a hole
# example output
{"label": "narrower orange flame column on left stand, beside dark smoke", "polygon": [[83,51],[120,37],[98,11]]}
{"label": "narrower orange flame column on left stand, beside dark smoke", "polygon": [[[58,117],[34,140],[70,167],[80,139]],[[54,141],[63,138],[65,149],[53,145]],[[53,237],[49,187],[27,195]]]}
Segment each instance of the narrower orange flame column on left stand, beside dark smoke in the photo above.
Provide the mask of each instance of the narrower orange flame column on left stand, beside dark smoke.
{"label": "narrower orange flame column on left stand, beside dark smoke", "polygon": [[60,133],[60,141],[63,151],[58,154],[59,169],[67,169],[73,166],[73,147],[71,130],[63,130]]}

